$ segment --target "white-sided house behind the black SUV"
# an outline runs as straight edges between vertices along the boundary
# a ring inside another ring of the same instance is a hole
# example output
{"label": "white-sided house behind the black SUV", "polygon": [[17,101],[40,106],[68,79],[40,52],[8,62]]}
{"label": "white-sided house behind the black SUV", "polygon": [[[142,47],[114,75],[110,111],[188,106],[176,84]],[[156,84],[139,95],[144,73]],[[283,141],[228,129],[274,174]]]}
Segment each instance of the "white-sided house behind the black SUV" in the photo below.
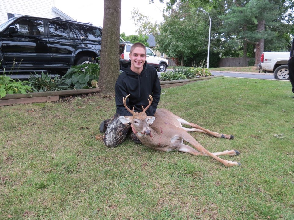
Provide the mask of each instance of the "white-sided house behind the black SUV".
{"label": "white-sided house behind the black SUV", "polygon": [[74,20],[54,6],[54,0],[4,0],[1,1],[0,24],[12,17],[30,15],[43,18],[60,17]]}

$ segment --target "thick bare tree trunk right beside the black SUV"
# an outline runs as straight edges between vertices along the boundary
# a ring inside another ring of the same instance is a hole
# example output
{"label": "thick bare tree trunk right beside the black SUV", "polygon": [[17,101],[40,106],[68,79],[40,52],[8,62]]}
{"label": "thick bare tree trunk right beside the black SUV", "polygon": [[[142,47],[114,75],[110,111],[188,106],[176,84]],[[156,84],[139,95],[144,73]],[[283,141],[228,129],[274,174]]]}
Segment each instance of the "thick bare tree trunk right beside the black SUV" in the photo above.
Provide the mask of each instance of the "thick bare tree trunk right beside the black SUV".
{"label": "thick bare tree trunk right beside the black SUV", "polygon": [[103,30],[98,86],[103,94],[115,94],[119,76],[121,0],[104,0]]}

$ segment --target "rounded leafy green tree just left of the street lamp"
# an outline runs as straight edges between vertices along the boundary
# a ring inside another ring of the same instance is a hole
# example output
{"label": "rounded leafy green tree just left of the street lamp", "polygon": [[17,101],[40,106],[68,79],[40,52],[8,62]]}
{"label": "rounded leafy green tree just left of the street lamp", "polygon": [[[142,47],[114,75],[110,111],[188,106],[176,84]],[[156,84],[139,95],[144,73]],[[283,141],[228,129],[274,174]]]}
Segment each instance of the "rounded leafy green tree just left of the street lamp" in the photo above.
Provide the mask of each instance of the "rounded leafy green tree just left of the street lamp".
{"label": "rounded leafy green tree just left of the street lamp", "polygon": [[166,53],[169,57],[180,57],[181,66],[184,58],[202,49],[206,44],[204,30],[207,26],[203,22],[202,13],[190,4],[178,3],[168,15],[164,15],[159,34],[155,35],[157,50]]}

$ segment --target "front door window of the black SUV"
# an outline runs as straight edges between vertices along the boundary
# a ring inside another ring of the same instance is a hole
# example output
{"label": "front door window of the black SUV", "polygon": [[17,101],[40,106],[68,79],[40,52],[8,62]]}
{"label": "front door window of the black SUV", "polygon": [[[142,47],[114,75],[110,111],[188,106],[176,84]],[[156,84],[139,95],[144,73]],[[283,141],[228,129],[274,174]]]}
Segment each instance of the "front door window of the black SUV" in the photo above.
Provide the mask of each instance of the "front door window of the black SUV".
{"label": "front door window of the black SUV", "polygon": [[[39,19],[22,19],[15,24],[18,28],[18,35],[44,36],[44,21]],[[6,31],[7,34],[8,30]]]}

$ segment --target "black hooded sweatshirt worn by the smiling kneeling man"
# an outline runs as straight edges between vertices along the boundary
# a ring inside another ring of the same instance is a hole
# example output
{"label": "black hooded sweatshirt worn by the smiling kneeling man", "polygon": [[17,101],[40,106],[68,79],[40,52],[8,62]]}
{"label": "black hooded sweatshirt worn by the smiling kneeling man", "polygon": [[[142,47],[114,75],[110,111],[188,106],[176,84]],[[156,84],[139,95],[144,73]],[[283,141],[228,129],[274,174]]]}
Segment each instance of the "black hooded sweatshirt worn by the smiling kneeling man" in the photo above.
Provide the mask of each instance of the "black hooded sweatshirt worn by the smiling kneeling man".
{"label": "black hooded sweatshirt worn by the smiling kneeling man", "polygon": [[157,71],[153,66],[147,65],[145,61],[143,71],[140,75],[131,70],[131,62],[122,64],[123,72],[119,75],[115,83],[115,103],[116,113],[121,116],[131,116],[123,105],[123,97],[131,94],[126,105],[135,112],[142,112],[142,106],[146,108],[149,104],[149,94],[153,97],[151,106],[146,110],[147,116],[153,116],[160,99],[161,87]]}

